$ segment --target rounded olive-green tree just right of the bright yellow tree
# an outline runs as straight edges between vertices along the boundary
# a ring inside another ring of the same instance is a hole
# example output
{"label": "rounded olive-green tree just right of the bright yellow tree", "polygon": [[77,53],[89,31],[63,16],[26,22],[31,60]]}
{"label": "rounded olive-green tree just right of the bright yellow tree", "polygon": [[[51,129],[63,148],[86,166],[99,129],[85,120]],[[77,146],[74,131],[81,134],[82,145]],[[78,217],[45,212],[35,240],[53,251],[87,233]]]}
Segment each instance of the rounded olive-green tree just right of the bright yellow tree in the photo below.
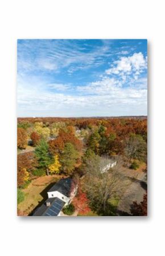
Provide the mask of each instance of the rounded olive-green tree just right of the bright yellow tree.
{"label": "rounded olive-green tree just right of the bright yellow tree", "polygon": [[72,174],[75,169],[76,160],[79,153],[71,143],[66,143],[63,153],[61,153],[61,165],[63,172],[66,174]]}

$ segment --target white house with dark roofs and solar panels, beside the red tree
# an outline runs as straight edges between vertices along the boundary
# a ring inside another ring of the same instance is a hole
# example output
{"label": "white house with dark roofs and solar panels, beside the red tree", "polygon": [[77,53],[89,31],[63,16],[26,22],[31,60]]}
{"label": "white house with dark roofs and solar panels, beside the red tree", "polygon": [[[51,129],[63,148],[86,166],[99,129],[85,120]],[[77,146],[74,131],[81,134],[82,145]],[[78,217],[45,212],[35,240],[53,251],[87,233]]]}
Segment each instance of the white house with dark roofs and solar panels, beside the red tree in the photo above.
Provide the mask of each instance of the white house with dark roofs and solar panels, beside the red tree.
{"label": "white house with dark roofs and solar panels, beside the red tree", "polygon": [[77,184],[72,178],[61,179],[48,190],[47,200],[35,210],[32,216],[61,216],[63,207],[70,204],[76,193]]}

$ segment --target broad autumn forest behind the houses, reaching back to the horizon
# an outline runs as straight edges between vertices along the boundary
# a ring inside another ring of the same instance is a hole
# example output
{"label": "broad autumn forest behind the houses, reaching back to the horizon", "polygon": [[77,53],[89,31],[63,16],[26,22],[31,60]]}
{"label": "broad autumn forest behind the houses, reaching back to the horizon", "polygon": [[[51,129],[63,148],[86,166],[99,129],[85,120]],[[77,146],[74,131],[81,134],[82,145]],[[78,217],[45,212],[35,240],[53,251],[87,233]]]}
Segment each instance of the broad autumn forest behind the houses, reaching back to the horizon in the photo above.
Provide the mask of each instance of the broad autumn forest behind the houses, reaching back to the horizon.
{"label": "broad autumn forest behind the houses, reaching back to the horizon", "polygon": [[34,176],[60,172],[70,175],[89,151],[98,156],[122,155],[133,168],[137,164],[132,160],[146,161],[147,119],[66,119],[65,122],[51,118],[56,120],[54,123],[48,123],[49,118],[37,119],[42,121],[35,123],[30,120],[34,119],[18,119],[18,148],[26,149],[30,143],[38,163],[32,169],[26,165],[19,168],[19,160],[24,156],[18,155],[18,172],[22,172],[19,176],[26,181],[31,170]]}

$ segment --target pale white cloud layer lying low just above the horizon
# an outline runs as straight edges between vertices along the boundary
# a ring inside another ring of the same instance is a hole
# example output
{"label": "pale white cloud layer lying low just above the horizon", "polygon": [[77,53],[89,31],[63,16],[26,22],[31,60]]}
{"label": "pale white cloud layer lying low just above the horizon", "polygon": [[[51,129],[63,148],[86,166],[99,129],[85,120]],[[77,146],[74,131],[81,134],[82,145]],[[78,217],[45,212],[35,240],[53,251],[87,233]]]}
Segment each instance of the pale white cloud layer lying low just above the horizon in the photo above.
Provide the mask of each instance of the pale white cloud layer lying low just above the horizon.
{"label": "pale white cloud layer lying low just above the horizon", "polygon": [[[42,82],[35,87],[26,79],[18,79],[18,116],[113,116],[146,115],[147,90],[142,80],[134,87],[122,87],[115,79],[103,78],[77,87],[76,95],[46,91]],[[54,84],[57,88],[64,84]],[[64,87],[63,87],[64,86]],[[32,115],[32,114],[31,114]]]}

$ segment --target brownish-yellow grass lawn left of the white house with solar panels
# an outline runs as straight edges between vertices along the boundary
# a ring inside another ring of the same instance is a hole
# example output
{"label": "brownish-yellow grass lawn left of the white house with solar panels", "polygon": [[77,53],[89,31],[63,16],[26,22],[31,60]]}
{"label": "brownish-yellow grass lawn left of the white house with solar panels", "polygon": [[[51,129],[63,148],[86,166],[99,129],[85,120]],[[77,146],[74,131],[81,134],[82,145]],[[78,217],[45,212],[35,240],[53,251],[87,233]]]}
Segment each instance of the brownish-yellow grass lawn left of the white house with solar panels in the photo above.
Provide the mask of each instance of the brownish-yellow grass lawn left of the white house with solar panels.
{"label": "brownish-yellow grass lawn left of the white house with solar panels", "polygon": [[[47,199],[47,191],[50,189],[49,185],[60,180],[61,176],[44,176],[33,180],[28,188],[22,189],[25,198],[24,201],[18,205],[18,210],[24,213],[25,216],[39,204],[40,201]],[[19,214],[20,216],[22,214]]]}

